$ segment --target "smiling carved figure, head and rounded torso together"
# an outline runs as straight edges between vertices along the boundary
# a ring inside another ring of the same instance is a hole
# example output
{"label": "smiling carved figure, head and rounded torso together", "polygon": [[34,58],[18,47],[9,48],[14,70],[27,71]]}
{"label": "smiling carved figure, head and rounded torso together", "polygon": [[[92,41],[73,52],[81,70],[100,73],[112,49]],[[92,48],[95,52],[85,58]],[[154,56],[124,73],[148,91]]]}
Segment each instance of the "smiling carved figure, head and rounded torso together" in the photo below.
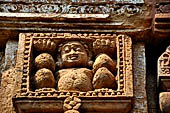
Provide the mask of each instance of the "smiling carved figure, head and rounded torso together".
{"label": "smiling carved figure, head and rounded torso together", "polygon": [[60,64],[59,67],[64,69],[58,71],[58,90],[92,90],[93,74],[91,70],[85,68],[88,64],[88,53],[85,46],[78,41],[71,41],[59,48],[59,52],[57,64]]}

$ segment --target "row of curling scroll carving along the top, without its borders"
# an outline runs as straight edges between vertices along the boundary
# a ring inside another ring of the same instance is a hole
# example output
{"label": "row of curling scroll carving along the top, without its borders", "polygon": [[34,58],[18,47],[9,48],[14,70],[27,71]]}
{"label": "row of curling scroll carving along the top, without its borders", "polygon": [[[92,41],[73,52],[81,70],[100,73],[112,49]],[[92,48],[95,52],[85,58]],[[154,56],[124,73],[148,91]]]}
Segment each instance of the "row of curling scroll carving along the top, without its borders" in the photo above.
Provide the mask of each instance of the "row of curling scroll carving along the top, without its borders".
{"label": "row of curling scroll carving along the top, without its borders", "polygon": [[0,4],[0,12],[6,13],[135,15],[141,11],[141,6],[137,5]]}

